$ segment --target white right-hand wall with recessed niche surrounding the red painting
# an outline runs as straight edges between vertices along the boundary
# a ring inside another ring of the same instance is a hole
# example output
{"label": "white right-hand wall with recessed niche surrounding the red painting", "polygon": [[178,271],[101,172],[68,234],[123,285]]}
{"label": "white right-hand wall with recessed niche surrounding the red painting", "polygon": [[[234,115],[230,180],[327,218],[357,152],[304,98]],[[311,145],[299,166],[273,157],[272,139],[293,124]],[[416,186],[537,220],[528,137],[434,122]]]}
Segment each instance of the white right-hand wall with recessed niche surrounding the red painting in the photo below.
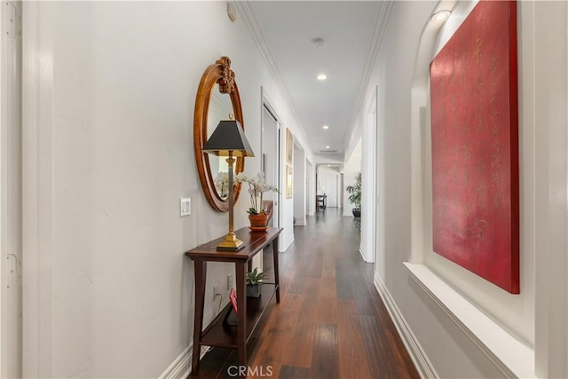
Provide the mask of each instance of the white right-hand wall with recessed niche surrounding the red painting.
{"label": "white right-hand wall with recessed niche surrounding the red painting", "polygon": [[[534,347],[537,373],[541,377],[568,375],[565,360],[568,355],[565,337],[568,325],[566,4],[517,4],[521,295],[513,296],[494,288],[431,252],[427,162],[430,139],[428,134],[421,134],[425,131],[421,131],[423,110],[413,108],[413,104],[426,100],[423,105],[427,105],[428,91],[414,87],[416,83],[423,85],[423,81],[416,79],[416,73],[428,70],[438,46],[430,46],[429,59],[424,61],[419,56],[416,61],[416,57],[422,28],[430,20],[436,4],[393,4],[375,72],[367,88],[367,99],[370,99],[375,84],[379,86],[377,173],[383,201],[379,204],[376,231],[380,237],[376,281],[406,322],[406,332],[417,343],[413,346],[415,351],[425,354],[426,361],[420,363],[431,365],[441,377],[501,377],[503,371],[492,354],[485,354],[475,336],[464,333],[443,307],[410,279],[402,265],[406,261],[430,267],[505,333],[525,343],[529,349]],[[463,12],[468,4],[460,2],[458,8]],[[445,33],[449,36],[447,30]],[[422,37],[426,35],[424,32]],[[359,118],[365,113],[366,110],[361,110]]]}

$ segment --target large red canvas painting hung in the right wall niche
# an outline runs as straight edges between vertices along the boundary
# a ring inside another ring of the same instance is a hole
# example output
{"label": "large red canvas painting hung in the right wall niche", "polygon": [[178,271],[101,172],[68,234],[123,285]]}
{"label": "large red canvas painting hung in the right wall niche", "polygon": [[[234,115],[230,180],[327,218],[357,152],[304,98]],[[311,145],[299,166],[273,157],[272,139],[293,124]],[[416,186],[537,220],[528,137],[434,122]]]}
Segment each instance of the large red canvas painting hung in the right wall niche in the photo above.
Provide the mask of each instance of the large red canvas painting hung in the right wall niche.
{"label": "large red canvas painting hung in the right wall niche", "polygon": [[430,63],[433,249],[519,293],[517,4],[481,1]]}

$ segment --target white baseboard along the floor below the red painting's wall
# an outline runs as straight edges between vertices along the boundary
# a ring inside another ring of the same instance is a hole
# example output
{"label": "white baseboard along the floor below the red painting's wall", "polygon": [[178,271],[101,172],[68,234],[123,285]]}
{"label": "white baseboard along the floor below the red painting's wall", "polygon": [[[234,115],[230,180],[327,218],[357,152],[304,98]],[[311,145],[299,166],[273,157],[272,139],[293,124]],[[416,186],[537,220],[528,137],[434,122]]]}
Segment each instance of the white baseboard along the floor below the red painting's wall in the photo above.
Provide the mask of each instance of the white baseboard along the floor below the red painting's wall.
{"label": "white baseboard along the floor below the red painting's wall", "polygon": [[389,290],[383,284],[383,280],[375,272],[375,288],[379,292],[379,295],[383,299],[383,303],[390,314],[390,319],[394,322],[395,327],[398,330],[398,335],[400,335],[402,342],[406,346],[410,358],[414,362],[414,366],[418,371],[418,374],[422,378],[439,378],[436,369],[432,366],[430,359],[426,353],[422,350],[422,346],[418,343],[418,340],[414,336],[412,329],[406,323],[405,318],[398,309],[397,304],[394,302],[392,296],[390,296]]}

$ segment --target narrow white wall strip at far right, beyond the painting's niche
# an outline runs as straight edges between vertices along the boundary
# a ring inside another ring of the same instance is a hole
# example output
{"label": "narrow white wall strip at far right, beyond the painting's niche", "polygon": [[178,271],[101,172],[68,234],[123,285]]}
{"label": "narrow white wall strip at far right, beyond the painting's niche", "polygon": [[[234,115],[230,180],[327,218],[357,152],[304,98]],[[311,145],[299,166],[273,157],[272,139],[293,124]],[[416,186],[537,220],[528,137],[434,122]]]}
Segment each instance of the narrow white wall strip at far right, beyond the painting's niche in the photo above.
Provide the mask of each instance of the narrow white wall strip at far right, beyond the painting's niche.
{"label": "narrow white wall strip at far right, beyond the painting's niche", "polygon": [[521,12],[525,38],[534,36],[525,67],[534,73],[534,87],[523,91],[533,107],[522,117],[535,124],[527,143],[535,152],[529,163],[535,175],[536,370],[542,377],[568,377],[568,4],[534,2]]}

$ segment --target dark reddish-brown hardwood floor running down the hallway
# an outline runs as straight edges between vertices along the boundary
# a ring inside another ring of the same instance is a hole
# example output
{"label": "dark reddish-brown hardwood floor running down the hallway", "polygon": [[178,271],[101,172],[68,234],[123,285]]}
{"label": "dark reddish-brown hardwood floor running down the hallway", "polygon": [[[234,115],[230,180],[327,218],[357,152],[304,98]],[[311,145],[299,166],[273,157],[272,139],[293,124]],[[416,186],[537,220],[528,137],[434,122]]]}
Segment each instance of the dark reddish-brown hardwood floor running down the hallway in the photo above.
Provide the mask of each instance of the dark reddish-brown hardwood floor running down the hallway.
{"label": "dark reddish-brown hardwood floor running down the hallway", "polygon": [[[355,222],[340,211],[308,217],[280,253],[280,304],[272,300],[248,342],[248,377],[419,377],[359,254]],[[236,351],[214,348],[199,377],[235,377],[236,365]]]}

